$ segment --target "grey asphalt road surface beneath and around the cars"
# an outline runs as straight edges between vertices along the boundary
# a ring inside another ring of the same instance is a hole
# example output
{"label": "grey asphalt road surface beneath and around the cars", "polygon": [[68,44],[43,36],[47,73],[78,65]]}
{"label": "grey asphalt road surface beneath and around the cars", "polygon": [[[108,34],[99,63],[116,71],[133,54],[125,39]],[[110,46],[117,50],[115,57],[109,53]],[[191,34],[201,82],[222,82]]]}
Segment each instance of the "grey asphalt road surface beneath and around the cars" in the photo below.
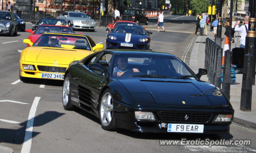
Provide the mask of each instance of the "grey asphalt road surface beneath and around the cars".
{"label": "grey asphalt road surface beneath and around the cars", "polygon": [[[194,16],[165,17],[166,32],[157,32],[157,18],[151,18],[148,31],[153,32],[150,48],[172,53],[186,64],[194,44]],[[26,28],[31,28],[27,24]],[[106,47],[105,28],[84,32],[96,43]],[[0,149],[14,152],[81,153],[81,152],[256,152],[256,129],[237,123],[230,125],[227,135],[134,133],[126,130],[104,131],[99,120],[84,111],[65,111],[62,106],[63,81],[31,79],[19,81],[20,51],[26,48],[23,39],[28,32],[17,36],[0,36]],[[35,117],[33,117],[33,114]],[[27,131],[27,132],[25,132]],[[31,133],[30,131],[33,131]],[[24,141],[26,133],[26,139]],[[160,146],[159,140],[250,139],[250,146]],[[24,143],[25,142],[25,143]]]}

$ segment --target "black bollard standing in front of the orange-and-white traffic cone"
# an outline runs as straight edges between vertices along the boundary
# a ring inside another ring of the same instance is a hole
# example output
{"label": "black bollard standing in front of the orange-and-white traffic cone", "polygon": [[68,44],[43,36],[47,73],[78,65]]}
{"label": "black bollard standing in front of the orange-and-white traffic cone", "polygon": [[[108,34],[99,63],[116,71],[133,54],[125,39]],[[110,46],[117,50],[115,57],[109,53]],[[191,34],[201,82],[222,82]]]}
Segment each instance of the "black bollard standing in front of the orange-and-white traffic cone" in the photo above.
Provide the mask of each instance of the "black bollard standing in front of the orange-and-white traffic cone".
{"label": "black bollard standing in front of the orange-and-white traffic cone", "polygon": [[229,50],[225,51],[224,58],[224,70],[223,70],[223,83],[222,83],[222,91],[224,95],[230,99],[230,73],[231,71],[231,52]]}

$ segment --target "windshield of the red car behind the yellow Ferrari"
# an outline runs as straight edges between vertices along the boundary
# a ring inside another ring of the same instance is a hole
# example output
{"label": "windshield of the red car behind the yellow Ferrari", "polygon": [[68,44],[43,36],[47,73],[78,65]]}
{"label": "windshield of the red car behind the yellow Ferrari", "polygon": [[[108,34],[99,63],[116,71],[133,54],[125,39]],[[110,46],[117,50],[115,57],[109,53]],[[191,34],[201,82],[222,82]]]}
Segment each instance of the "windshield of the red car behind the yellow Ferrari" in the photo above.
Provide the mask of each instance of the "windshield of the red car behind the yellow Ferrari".
{"label": "windshield of the red car behind the yellow Ferrari", "polygon": [[44,33],[54,33],[54,32],[67,32],[73,33],[73,30],[67,26],[39,26],[34,34],[44,34]]}

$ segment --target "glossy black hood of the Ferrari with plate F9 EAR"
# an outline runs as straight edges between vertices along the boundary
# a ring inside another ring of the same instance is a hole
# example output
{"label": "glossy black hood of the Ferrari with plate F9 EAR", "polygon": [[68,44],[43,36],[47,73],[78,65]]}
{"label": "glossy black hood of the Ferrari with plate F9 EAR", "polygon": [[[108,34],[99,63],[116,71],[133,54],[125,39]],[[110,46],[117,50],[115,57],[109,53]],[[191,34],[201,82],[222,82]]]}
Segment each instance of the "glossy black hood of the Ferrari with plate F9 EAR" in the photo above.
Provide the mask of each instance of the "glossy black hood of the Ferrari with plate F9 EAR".
{"label": "glossy black hood of the Ferrari with plate F9 EAR", "polygon": [[228,105],[214,85],[182,79],[118,79],[138,105],[212,106]]}

